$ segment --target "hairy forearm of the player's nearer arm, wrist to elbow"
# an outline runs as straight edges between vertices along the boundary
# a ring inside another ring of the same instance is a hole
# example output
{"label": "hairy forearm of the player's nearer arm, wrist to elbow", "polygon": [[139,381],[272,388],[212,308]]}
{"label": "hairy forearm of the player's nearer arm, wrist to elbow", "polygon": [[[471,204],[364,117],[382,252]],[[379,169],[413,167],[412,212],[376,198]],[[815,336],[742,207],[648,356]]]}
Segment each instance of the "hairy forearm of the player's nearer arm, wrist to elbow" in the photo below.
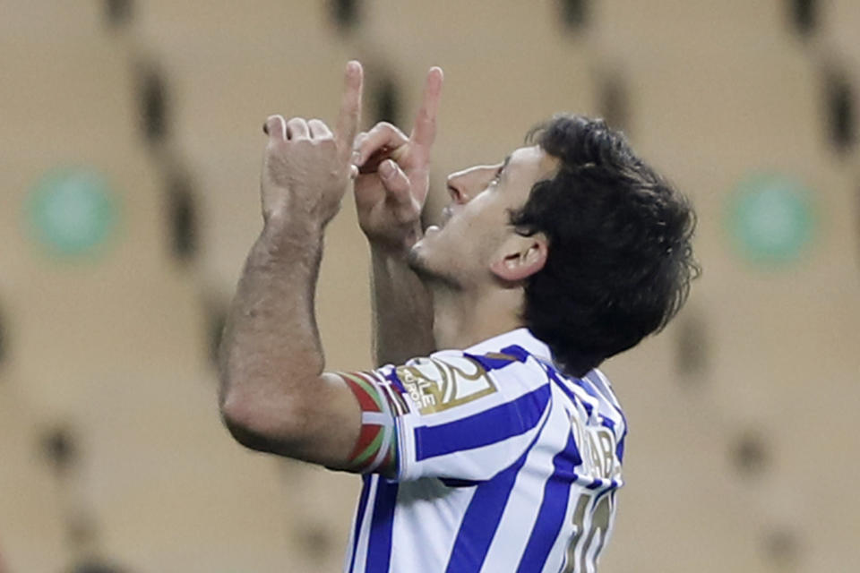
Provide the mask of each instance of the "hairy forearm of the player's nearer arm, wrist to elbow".
{"label": "hairy forearm of the player's nearer arm, wrist to elbow", "polygon": [[[226,417],[260,408],[296,411],[323,372],[314,291],[322,226],[270,218],[245,261],[219,348],[219,400]],[[257,415],[255,414],[255,415]]]}

